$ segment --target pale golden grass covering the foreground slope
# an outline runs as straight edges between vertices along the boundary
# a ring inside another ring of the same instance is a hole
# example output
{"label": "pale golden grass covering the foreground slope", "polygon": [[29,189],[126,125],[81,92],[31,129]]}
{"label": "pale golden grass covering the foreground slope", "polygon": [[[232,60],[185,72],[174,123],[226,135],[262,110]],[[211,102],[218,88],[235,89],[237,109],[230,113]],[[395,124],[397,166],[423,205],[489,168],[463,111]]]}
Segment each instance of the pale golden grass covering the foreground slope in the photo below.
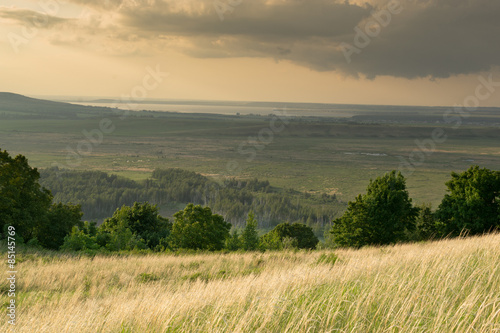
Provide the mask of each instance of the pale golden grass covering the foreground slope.
{"label": "pale golden grass covering the foreground slope", "polygon": [[15,332],[500,332],[500,234],[334,254],[26,259]]}

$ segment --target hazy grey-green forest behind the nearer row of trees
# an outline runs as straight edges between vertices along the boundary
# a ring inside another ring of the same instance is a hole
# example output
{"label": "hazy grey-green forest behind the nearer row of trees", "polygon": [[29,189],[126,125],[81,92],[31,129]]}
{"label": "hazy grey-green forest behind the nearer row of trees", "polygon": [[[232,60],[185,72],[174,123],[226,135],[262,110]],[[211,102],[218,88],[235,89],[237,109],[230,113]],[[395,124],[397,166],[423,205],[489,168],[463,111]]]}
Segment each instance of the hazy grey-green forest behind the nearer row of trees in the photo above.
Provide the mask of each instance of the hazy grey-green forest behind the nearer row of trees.
{"label": "hazy grey-green forest behind the nearer row of trees", "polygon": [[84,218],[95,220],[134,202],[150,202],[160,208],[194,203],[209,206],[237,227],[243,227],[253,211],[261,228],[272,228],[283,221],[300,222],[321,234],[323,227],[345,209],[335,195],[283,190],[258,179],[228,179],[220,185],[181,169],[157,169],[149,179],[136,182],[100,171],[50,168],[41,171],[40,183],[51,190],[55,201],[80,204]]}

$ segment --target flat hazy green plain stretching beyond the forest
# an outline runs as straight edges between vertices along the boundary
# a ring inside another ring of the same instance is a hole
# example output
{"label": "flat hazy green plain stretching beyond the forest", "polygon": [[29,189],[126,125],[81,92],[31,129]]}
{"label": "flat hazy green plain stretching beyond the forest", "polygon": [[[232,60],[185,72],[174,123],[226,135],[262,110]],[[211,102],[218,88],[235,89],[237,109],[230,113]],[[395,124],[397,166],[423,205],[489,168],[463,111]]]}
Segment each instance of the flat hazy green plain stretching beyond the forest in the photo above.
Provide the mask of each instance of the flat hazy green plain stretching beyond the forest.
{"label": "flat hazy green plain stretching beyond the forest", "polygon": [[[445,131],[447,140],[414,172],[402,169],[417,203],[439,204],[451,171],[472,164],[500,166],[497,109],[479,110],[454,129],[443,123],[442,108],[410,112],[403,107],[367,107],[365,115],[357,110],[350,118],[293,117],[287,124],[257,115],[137,112],[120,118],[111,109],[78,107],[67,116],[61,111],[40,111],[37,116],[35,111],[9,113],[9,108],[0,103],[2,149],[26,155],[39,168],[101,170],[135,180],[147,178],[155,168],[178,167],[218,180],[257,177],[277,187],[336,193],[348,201],[363,192],[370,179],[400,168],[398,156],[408,159],[418,149],[415,140],[430,139],[436,128]],[[79,142],[89,144],[82,131],[99,129],[104,118],[116,129],[105,134],[102,143],[92,144],[78,164],[68,164],[67,147],[76,150]],[[281,131],[271,130],[281,125]]]}

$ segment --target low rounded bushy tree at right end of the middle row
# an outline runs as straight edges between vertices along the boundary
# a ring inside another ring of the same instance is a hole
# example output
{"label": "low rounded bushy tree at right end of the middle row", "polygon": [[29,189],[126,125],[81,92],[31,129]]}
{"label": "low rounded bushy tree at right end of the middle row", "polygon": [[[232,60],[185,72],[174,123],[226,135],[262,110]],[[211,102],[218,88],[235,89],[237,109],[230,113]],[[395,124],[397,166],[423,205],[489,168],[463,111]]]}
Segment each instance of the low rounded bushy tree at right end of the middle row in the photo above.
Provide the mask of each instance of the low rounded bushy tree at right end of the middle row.
{"label": "low rounded bushy tree at right end of the middle row", "polygon": [[[319,240],[316,235],[314,235],[311,227],[308,227],[302,223],[281,223],[274,227],[273,230],[269,231],[267,234],[262,236],[262,244],[266,246],[271,246],[276,249],[276,241],[279,240],[283,246],[284,238],[294,238],[296,239],[296,246],[299,249],[314,249],[318,244]],[[287,241],[287,244],[295,244],[291,240]]]}

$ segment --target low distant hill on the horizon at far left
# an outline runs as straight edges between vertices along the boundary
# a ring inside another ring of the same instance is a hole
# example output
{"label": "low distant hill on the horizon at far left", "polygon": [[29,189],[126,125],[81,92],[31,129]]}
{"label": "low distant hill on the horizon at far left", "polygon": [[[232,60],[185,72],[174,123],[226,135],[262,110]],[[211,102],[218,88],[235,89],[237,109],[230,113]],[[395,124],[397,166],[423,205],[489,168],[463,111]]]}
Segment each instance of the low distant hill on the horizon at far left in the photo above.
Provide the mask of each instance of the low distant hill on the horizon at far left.
{"label": "low distant hill on the horizon at far left", "polygon": [[109,113],[110,108],[52,102],[19,94],[0,92],[0,116],[3,117],[76,117],[79,113]]}

